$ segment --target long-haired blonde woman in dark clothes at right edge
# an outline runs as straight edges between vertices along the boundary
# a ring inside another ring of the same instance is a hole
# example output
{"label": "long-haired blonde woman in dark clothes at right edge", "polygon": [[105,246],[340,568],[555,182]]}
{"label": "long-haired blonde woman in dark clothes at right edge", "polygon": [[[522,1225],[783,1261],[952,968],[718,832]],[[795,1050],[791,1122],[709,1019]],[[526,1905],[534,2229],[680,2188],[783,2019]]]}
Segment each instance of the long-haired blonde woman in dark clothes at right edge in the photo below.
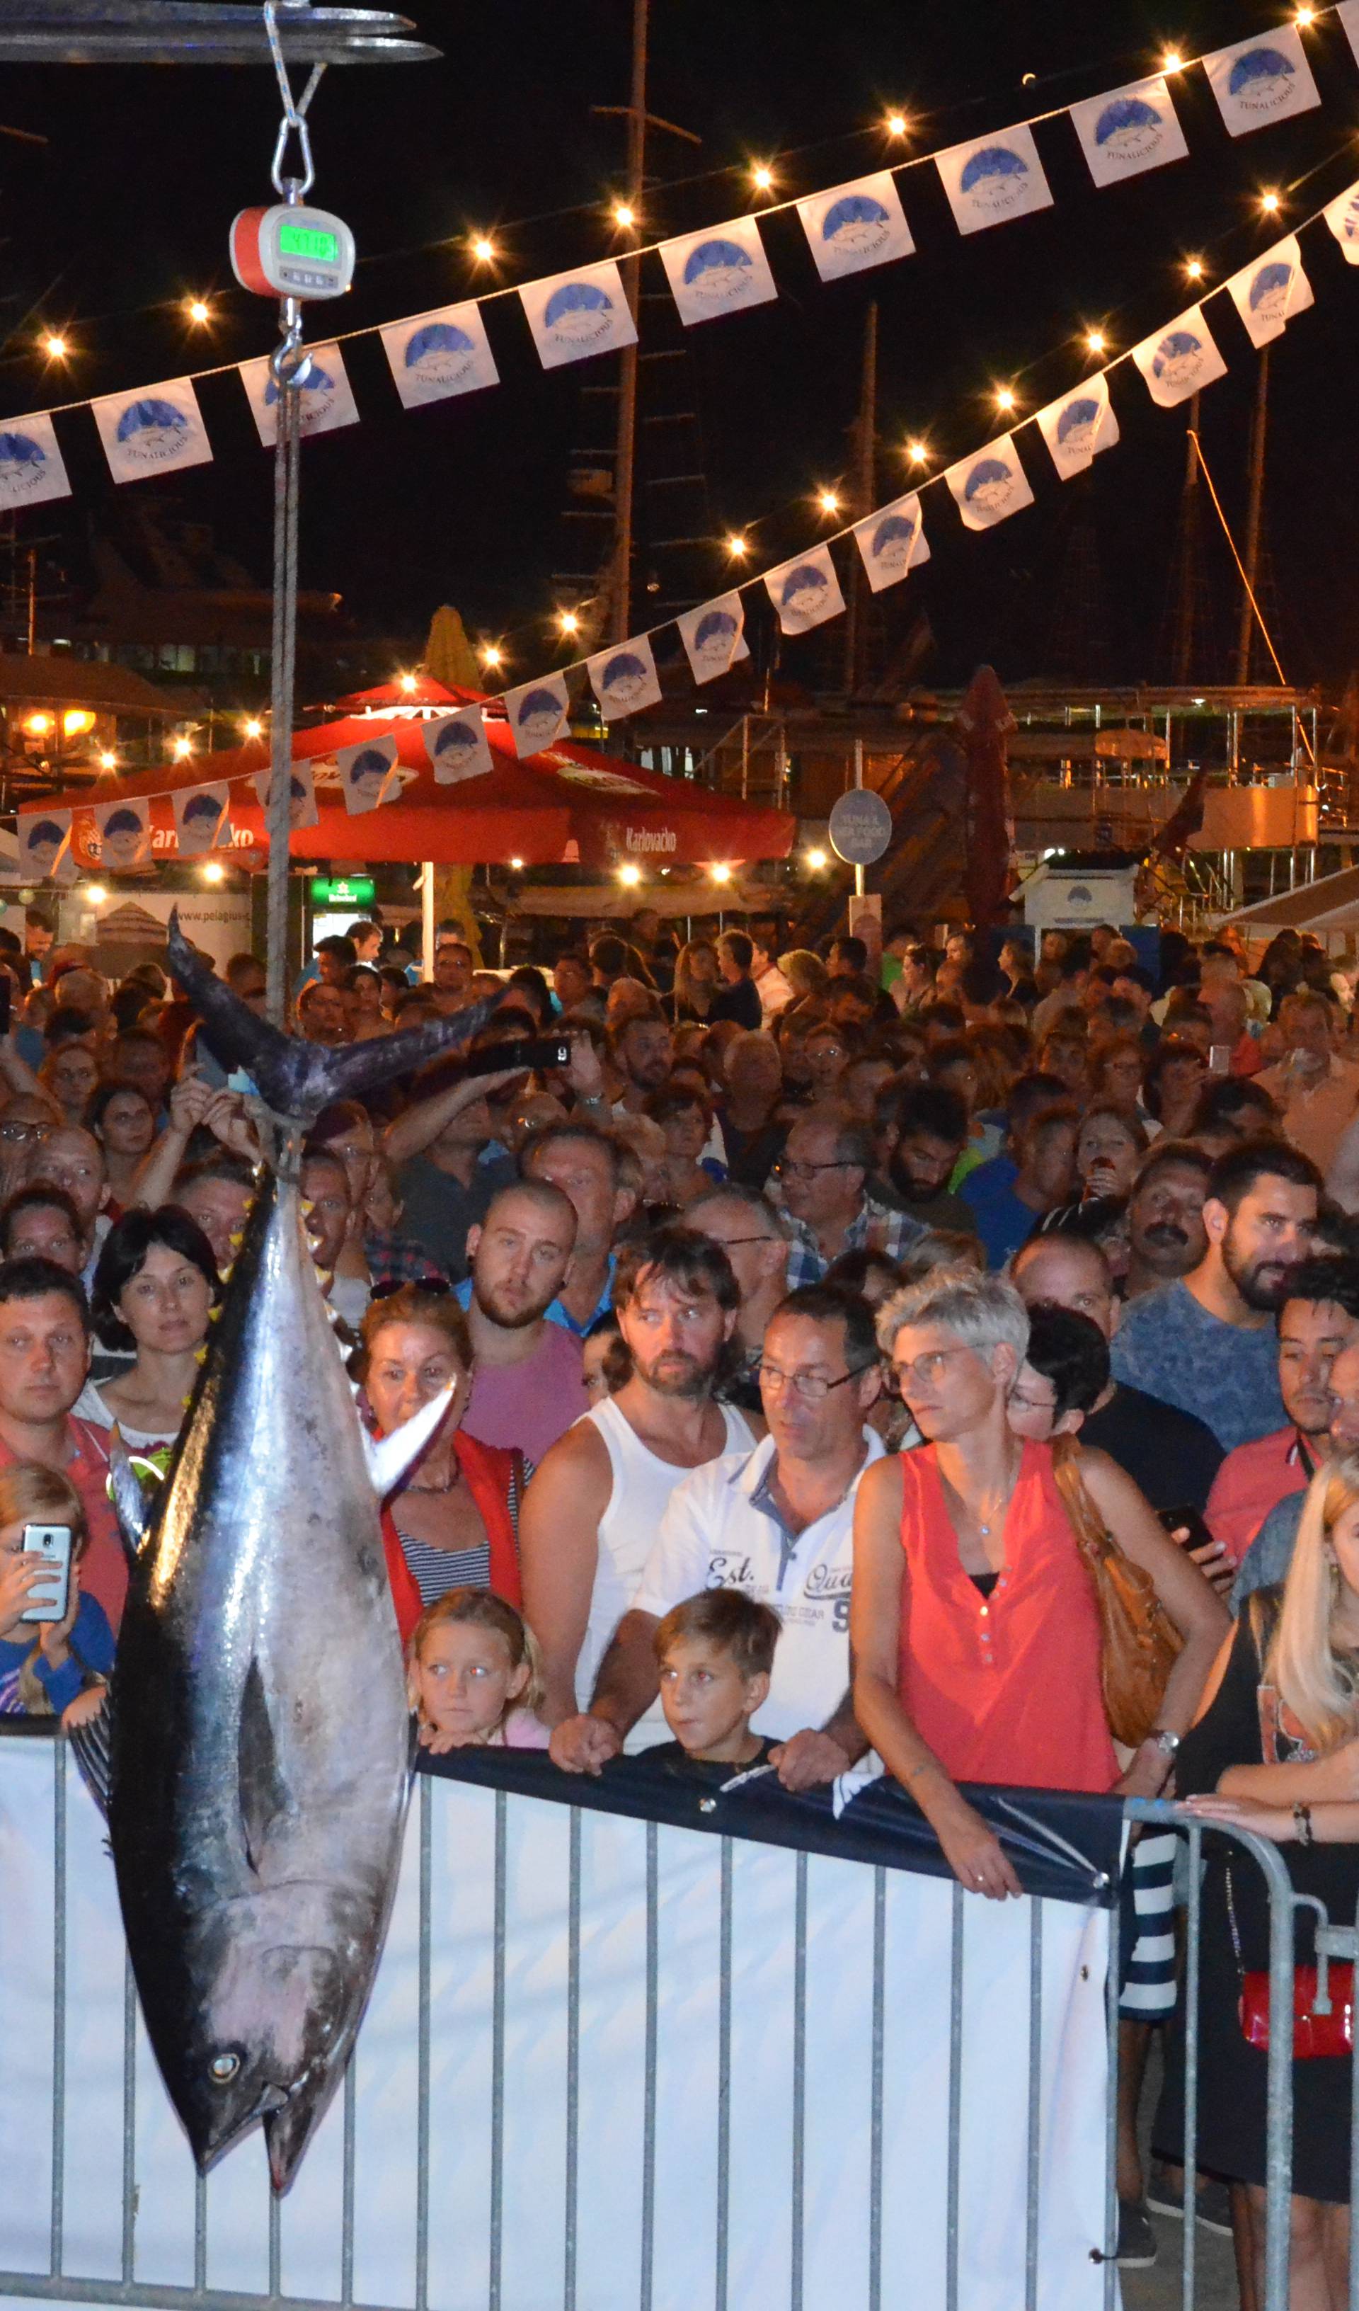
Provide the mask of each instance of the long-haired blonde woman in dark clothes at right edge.
{"label": "long-haired blonde woman in dark clothes at right edge", "polygon": [[[1331,1918],[1359,1900],[1359,1454],[1308,1486],[1283,1588],[1255,1590],[1218,1655],[1176,1756],[1200,1821],[1230,1821],[1285,1849],[1299,1893]],[[1211,1840],[1209,1846],[1218,1842]],[[1313,1916],[1297,1914],[1297,1964],[1313,1962]],[[1241,2036],[1241,1971],[1269,1964],[1255,1863],[1225,1840],[1206,1851],[1200,1987],[1200,2163],[1248,2186],[1255,2260],[1264,2246],[1264,2064]],[[1156,2147],[1183,2156],[1172,2061]],[[1290,2311],[1345,2311],[1350,2225],[1350,2059],[1294,2061]],[[1260,2297],[1264,2283],[1257,2269]]]}

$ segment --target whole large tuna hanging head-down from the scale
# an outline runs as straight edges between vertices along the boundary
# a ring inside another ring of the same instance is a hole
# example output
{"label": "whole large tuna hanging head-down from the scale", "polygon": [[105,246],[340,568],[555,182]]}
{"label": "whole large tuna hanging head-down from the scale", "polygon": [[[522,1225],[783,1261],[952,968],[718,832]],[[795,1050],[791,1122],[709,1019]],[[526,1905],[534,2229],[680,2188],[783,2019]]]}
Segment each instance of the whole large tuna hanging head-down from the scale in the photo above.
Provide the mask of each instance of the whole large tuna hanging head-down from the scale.
{"label": "whole large tuna hanging head-down from the scale", "polygon": [[[492,1005],[344,1052],[263,1028],[183,941],[176,975],[284,1119],[157,1498],[116,1474],[134,1569],[109,1708],[109,1833],[146,2029],[208,2168],[263,2119],[287,2189],[340,2080],[386,1920],[409,1712],[374,1461],[298,1204],[300,1125],[467,1040]],[[374,1491],[377,1486],[377,1491]]]}

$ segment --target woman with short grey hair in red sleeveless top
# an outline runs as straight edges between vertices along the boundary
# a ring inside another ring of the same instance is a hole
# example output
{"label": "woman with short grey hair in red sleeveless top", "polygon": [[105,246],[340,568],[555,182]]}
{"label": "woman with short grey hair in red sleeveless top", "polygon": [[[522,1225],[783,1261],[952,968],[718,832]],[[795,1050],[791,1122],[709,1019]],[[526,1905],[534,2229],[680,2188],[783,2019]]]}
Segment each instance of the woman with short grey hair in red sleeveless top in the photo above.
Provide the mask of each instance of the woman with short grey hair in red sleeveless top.
{"label": "woman with short grey hair in red sleeveless top", "polygon": [[860,1479],[855,1715],[959,1881],[1003,1900],[1019,1879],[957,1784],[1156,1796],[1206,1673],[1193,1634],[1202,1583],[1137,1486],[1086,1454],[1091,1498],[1188,1638],[1158,1731],[1119,1775],[1096,1595],[1052,1449],[1012,1435],[1005,1417],[1028,1343],[1024,1301],[998,1276],[927,1278],[888,1301],[878,1340],[929,1442]]}

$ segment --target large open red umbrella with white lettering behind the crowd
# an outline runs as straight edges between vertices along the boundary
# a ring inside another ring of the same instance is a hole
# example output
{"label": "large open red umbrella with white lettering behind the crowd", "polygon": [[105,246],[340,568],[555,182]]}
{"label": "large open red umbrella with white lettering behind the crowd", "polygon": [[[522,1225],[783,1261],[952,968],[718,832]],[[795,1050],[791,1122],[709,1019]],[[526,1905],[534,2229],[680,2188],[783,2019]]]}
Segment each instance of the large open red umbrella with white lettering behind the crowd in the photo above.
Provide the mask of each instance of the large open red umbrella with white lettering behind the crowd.
{"label": "large open red umbrella with white lettering behind the crowd", "polygon": [[[777,860],[793,848],[795,820],[788,811],[714,795],[689,779],[666,779],[573,742],[520,763],[499,700],[451,691],[448,703],[485,707],[485,735],[495,756],[490,772],[458,786],[435,781],[418,709],[349,714],[298,730],[294,760],[314,765],[319,823],[294,832],[291,855],[344,864],[432,860],[437,867],[485,867],[522,860],[525,867],[548,867],[578,860],[587,867],[615,867],[649,860],[680,867]],[[335,751],[374,737],[395,740],[402,790],[377,811],[349,813]],[[268,740],[247,740],[245,746],[173,767],[99,779],[95,790],[49,797],[44,809],[74,813],[76,864],[97,867],[95,804],[148,797],[155,855],[176,857],[171,797],[208,781],[229,781],[236,862],[261,867],[266,830],[254,776],[266,767]]]}

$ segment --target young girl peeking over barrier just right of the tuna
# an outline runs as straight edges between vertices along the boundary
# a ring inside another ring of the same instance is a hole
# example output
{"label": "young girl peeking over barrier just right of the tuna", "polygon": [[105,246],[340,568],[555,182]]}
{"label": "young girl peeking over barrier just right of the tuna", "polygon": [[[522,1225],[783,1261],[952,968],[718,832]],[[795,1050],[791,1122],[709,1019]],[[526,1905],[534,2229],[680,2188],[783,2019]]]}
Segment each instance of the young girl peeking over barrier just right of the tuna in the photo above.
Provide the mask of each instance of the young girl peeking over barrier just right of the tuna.
{"label": "young girl peeking over barrier just right of the tuna", "polygon": [[407,1648],[407,1692],[421,1747],[545,1749],[539,1722],[539,1643],[513,1604],[492,1590],[448,1590],[421,1613]]}

